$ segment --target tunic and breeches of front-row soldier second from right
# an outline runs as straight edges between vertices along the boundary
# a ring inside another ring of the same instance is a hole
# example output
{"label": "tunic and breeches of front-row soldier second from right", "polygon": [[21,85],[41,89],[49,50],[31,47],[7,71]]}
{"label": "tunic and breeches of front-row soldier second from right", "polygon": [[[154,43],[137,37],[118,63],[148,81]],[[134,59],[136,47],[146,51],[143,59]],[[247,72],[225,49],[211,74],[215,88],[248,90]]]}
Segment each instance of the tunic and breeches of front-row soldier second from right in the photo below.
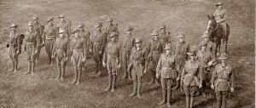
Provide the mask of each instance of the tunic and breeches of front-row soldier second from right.
{"label": "tunic and breeches of front-row soldier second from right", "polygon": [[198,86],[202,83],[200,78],[200,63],[196,60],[188,60],[186,61],[183,72],[182,72],[182,79],[183,82],[183,89],[186,96],[195,97],[197,92]]}

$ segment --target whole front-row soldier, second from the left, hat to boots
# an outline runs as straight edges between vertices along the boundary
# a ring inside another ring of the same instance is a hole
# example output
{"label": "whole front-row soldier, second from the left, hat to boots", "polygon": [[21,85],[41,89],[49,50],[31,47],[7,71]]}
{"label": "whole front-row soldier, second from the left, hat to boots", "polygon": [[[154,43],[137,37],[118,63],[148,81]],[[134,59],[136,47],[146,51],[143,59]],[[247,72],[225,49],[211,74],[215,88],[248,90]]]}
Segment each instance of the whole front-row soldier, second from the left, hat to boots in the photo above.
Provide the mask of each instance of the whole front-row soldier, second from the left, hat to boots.
{"label": "whole front-row soldier, second from the left, hat to boots", "polygon": [[31,72],[33,75],[35,70],[35,60],[36,60],[36,54],[38,54],[38,48],[39,48],[39,34],[37,31],[34,30],[33,24],[31,21],[28,22],[28,28],[29,30],[26,31],[26,37],[24,39],[25,45],[24,50],[26,51],[27,60],[28,60],[28,66],[27,71],[24,74],[28,74]]}

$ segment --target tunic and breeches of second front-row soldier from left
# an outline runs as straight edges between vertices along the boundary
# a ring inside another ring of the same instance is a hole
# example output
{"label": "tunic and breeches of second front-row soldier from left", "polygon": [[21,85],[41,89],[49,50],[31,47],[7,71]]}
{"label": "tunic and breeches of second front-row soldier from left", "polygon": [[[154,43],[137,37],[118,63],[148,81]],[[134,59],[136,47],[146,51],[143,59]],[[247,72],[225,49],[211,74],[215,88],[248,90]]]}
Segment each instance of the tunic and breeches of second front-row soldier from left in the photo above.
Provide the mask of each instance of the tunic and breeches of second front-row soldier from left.
{"label": "tunic and breeches of second front-row soldier from left", "polygon": [[28,61],[35,61],[35,51],[39,48],[39,34],[37,31],[26,31],[25,33],[25,45],[26,45],[26,55]]}

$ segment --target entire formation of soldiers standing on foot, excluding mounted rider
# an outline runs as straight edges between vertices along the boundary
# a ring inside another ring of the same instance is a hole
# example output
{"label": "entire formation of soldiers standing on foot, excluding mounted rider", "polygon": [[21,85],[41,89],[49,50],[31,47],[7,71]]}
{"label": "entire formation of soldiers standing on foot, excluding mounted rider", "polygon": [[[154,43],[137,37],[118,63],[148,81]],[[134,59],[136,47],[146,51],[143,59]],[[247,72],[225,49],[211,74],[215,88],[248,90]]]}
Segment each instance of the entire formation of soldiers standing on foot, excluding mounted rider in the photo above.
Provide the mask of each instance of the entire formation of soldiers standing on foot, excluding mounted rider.
{"label": "entire formation of soldiers standing on foot, excluding mounted rider", "polygon": [[[221,5],[221,4],[219,4]],[[61,23],[53,25],[54,18],[49,17],[47,25],[39,26],[38,17],[33,17],[29,22],[29,29],[25,35],[16,32],[18,27],[12,24],[12,31],[9,35],[8,47],[9,57],[12,60],[12,69],[17,71],[18,55],[21,53],[21,44],[27,54],[28,70],[25,74],[34,73],[35,61],[38,60],[40,48],[45,46],[49,57],[49,65],[55,58],[58,67],[57,80],[63,80],[67,60],[73,64],[74,80],[72,83],[79,85],[82,68],[88,57],[88,52],[93,54],[96,73],[101,75],[101,67],[108,70],[108,87],[104,90],[115,91],[118,70],[123,67],[124,77],[133,81],[133,92],[130,96],[137,94],[141,98],[143,75],[146,72],[151,74],[150,82],[162,87],[162,101],[159,105],[166,104],[171,107],[172,89],[180,87],[186,94],[187,107],[193,107],[195,96],[200,88],[203,97],[206,96],[207,87],[215,89],[218,100],[218,107],[225,107],[229,92],[233,92],[234,75],[231,66],[226,63],[227,54],[221,54],[218,58],[221,64],[215,66],[216,59],[212,54],[212,42],[209,41],[209,33],[206,31],[204,40],[200,43],[199,49],[191,49],[189,43],[184,41],[184,33],[177,36],[178,42],[171,44],[170,32],[166,32],[166,26],[160,26],[159,30],[151,33],[147,47],[143,48],[142,39],[132,36],[133,27],[126,26],[126,35],[119,39],[117,25],[113,25],[113,19],[108,18],[108,27],[102,31],[102,22],[96,24],[96,31],[90,35],[85,31],[84,24],[71,31],[71,22],[65,20],[65,16],[59,16]],[[74,34],[74,37],[71,37]],[[22,41],[24,38],[24,42]],[[102,64],[102,65],[101,65]],[[211,72],[212,71],[212,72]],[[212,73],[212,79],[211,77]],[[160,78],[160,82],[159,79]],[[210,83],[210,84],[209,84]]]}

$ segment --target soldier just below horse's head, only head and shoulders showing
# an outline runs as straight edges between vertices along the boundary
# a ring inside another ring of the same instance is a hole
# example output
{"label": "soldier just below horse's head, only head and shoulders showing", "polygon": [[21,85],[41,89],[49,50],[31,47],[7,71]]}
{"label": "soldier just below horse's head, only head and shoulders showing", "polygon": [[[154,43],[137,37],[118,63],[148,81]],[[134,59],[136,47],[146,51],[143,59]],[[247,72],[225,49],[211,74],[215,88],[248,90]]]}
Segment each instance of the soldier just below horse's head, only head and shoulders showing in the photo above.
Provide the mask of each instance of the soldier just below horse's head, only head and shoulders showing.
{"label": "soldier just below horse's head, only head and shoulders showing", "polygon": [[[214,54],[212,51],[213,48],[213,43],[209,40],[209,32],[205,31],[204,35],[201,36],[204,40],[201,41],[201,43],[207,43],[207,51],[211,52],[212,54]],[[201,43],[199,44],[199,49],[201,49]]]}

